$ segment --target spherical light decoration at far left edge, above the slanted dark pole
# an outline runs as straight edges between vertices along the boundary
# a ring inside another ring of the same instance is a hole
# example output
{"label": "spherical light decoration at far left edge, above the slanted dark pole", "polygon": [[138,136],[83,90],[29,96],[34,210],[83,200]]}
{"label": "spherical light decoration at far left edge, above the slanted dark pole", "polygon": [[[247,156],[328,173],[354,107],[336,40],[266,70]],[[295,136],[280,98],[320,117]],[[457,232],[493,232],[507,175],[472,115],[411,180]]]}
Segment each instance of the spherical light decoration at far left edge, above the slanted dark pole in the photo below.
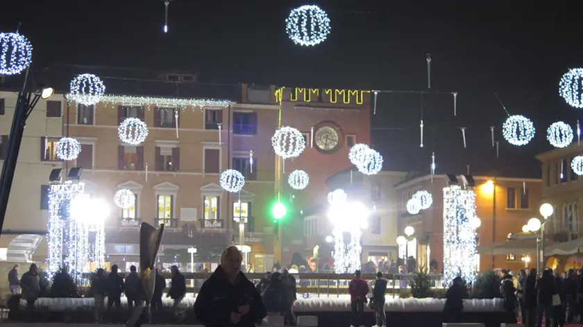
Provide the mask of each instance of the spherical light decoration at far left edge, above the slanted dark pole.
{"label": "spherical light decoration at far left edge, above the slanted dark pole", "polygon": [[0,75],[21,73],[33,62],[33,46],[24,35],[0,33]]}

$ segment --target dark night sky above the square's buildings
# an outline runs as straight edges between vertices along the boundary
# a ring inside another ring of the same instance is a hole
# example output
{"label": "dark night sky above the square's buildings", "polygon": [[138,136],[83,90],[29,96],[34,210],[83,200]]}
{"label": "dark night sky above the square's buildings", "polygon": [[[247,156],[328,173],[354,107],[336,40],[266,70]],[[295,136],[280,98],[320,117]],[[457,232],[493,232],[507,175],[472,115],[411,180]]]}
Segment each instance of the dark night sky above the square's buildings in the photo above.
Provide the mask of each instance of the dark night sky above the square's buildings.
{"label": "dark night sky above the square's buildings", "polygon": [[[577,45],[583,5],[399,2],[312,1],[328,12],[332,31],[326,42],[309,48],[285,33],[285,18],[305,4],[300,1],[174,0],[167,34],[160,0],[2,1],[0,30],[22,23],[20,32],[34,46],[35,69],[178,69],[197,72],[202,82],[288,87],[427,91],[425,58],[431,53],[430,91],[457,91],[458,115],[450,94],[380,95],[372,133],[385,170],[429,173],[434,151],[438,173],[464,173],[470,164],[476,175],[540,177],[534,154],[550,150],[546,128],[558,120],[575,128],[580,114],[557,88],[568,68],[583,66],[583,42]],[[506,114],[495,93],[510,114],[534,121],[529,145],[517,148],[502,139]],[[492,125],[499,159],[491,147]],[[467,128],[466,149],[459,127]]]}

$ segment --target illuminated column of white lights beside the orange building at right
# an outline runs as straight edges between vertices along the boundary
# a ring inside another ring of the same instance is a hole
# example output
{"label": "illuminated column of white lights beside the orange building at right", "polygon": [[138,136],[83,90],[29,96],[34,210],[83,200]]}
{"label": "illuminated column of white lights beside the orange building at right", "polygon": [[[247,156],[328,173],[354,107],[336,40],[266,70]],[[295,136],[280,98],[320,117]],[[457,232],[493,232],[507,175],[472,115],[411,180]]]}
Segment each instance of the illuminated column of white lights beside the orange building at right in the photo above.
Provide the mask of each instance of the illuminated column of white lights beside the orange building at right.
{"label": "illuminated column of white lights beside the orange building at right", "polygon": [[471,225],[474,217],[473,188],[443,188],[443,274],[448,284],[457,276],[466,283],[475,281],[474,260],[468,260],[476,254],[476,234]]}

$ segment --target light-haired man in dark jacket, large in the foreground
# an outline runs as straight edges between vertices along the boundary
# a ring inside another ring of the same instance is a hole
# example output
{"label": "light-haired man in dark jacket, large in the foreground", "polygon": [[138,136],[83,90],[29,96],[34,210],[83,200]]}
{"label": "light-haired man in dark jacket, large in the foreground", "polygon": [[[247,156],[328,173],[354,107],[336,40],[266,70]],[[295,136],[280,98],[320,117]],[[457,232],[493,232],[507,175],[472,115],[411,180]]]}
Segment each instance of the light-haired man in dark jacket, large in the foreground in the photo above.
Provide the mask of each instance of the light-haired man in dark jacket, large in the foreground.
{"label": "light-haired man in dark jacket, large in the foreground", "polygon": [[255,285],[241,272],[237,247],[221,254],[221,265],[203,283],[194,302],[196,319],[212,327],[253,327],[267,312]]}

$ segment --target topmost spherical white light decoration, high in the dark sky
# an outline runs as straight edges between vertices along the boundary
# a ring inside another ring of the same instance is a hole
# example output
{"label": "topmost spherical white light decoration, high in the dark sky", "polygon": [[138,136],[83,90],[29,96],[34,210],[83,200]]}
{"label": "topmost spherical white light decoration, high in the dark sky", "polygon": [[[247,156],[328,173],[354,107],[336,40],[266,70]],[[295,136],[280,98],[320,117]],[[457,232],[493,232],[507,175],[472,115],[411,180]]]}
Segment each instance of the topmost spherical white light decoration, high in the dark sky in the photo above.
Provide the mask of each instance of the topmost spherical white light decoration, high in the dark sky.
{"label": "topmost spherical white light decoration, high in the dark sky", "polygon": [[330,34],[330,19],[319,6],[304,5],[289,12],[285,30],[295,44],[315,46]]}

